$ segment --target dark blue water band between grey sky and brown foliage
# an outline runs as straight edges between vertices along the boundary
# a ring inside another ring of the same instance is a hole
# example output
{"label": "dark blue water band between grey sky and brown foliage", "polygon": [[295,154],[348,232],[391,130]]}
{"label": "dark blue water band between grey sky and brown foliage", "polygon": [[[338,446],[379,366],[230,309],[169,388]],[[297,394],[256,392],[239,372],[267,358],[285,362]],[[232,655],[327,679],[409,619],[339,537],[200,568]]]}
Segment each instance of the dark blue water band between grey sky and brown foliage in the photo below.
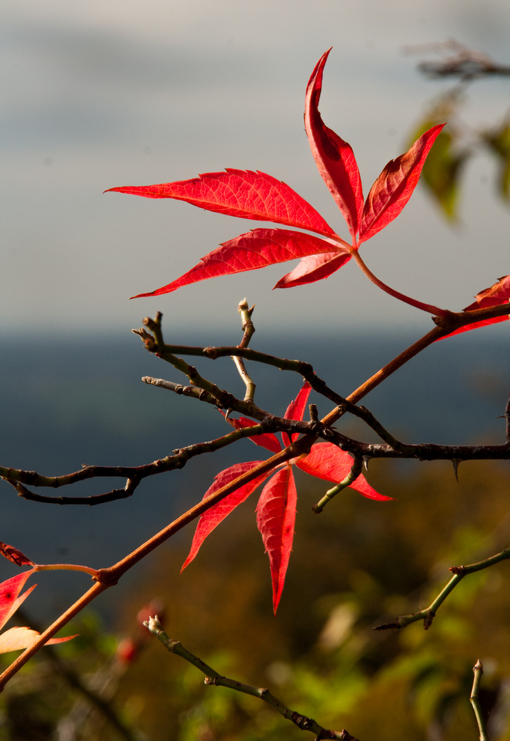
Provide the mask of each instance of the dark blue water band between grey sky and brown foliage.
{"label": "dark blue water band between grey sky and brown foliage", "polygon": [[[510,388],[510,335],[505,330],[491,328],[436,343],[363,403],[405,442],[503,441],[504,420],[498,416]],[[215,338],[215,344],[238,339],[223,336]],[[312,362],[328,385],[347,396],[415,339],[411,333],[354,337],[336,331],[313,338],[255,335],[252,346]],[[173,341],[185,342],[178,336]],[[210,345],[213,339],[197,334],[186,342]],[[83,463],[141,465],[230,430],[211,406],[143,384],[144,375],[186,381],[128,333],[113,339],[13,336],[4,337],[1,345],[1,465],[47,475],[76,471]],[[230,359],[197,360],[189,358],[202,375],[243,396],[244,386]],[[250,370],[257,383],[256,402],[282,414],[300,388],[299,376],[259,365]],[[329,402],[313,400],[319,412],[331,408]],[[360,423],[346,419],[342,425],[342,431],[374,439]],[[261,453],[261,448],[242,441],[193,459],[182,471],[147,479],[130,499],[92,508],[27,502],[0,482],[0,540],[37,562],[107,566],[201,499],[215,473],[239,459],[259,459]],[[99,494],[123,485],[121,479],[95,480],[58,494]],[[11,574],[13,567],[0,563],[0,578]],[[125,577],[127,585],[130,579],[136,574]],[[39,592],[52,595],[39,598],[44,602],[39,609],[48,614],[66,607],[89,584],[86,576],[76,574],[40,574],[38,581],[46,585]],[[108,597],[104,604],[111,609],[115,599]]]}

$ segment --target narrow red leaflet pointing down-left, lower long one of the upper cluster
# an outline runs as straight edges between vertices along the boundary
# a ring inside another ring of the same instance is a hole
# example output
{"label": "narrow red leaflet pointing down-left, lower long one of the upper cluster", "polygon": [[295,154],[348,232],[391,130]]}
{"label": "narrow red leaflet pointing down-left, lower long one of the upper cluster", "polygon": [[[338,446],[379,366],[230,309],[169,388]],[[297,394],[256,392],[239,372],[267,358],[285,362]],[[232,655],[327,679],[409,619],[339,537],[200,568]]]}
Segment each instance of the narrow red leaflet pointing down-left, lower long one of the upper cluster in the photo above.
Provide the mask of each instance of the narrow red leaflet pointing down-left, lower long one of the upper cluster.
{"label": "narrow red leaflet pointing down-left, lower long one of the upper cluster", "polygon": [[[254,229],[231,239],[205,257],[198,265],[188,270],[180,278],[150,293],[138,293],[132,296],[139,299],[143,296],[160,296],[171,293],[183,285],[191,285],[208,278],[243,273],[245,270],[257,270],[277,262],[287,262],[297,257],[315,253],[330,253],[335,244],[331,240],[319,239],[317,236],[286,229]],[[339,247],[342,250],[343,247]]]}

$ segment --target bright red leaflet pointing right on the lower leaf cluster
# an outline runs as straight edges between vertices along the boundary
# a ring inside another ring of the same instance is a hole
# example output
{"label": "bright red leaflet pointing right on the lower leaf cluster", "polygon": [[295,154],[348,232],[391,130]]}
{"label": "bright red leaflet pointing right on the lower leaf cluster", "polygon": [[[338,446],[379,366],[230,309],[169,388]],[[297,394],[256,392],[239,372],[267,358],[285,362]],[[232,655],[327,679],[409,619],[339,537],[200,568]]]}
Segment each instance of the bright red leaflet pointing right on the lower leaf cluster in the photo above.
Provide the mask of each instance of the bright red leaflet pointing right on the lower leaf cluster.
{"label": "bright red leaflet pointing right on the lower leaf cluster", "polygon": [[[332,442],[317,442],[312,445],[308,456],[298,458],[295,463],[301,471],[309,473],[310,476],[340,484],[351,471],[353,459]],[[362,474],[350,486],[368,499],[377,499],[379,502],[393,499],[392,496],[383,496],[375,491]]]}

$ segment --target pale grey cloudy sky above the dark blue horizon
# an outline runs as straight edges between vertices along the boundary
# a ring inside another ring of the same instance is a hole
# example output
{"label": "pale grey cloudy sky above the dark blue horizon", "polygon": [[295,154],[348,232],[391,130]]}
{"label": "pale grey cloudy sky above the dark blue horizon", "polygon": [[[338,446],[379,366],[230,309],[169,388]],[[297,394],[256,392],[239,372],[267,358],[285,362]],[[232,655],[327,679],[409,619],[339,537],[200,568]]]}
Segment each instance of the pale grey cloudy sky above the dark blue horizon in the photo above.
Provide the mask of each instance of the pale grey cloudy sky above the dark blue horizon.
{"label": "pale grey cloudy sky above the dark blue horizon", "polygon": [[[212,333],[238,327],[244,297],[268,331],[429,327],[428,316],[374,288],[354,263],[301,288],[271,290],[288,263],[130,301],[262,224],[103,191],[224,167],[262,170],[346,237],[303,126],[319,57],[333,47],[322,117],[354,148],[368,193],[446,88],[417,73],[430,54],[404,47],[454,38],[509,64],[507,0],[0,6],[0,333],[124,333],[157,310],[168,331]],[[463,113],[477,127],[508,107],[508,79],[480,82]],[[489,156],[469,165],[454,228],[418,187],[399,219],[362,247],[368,267],[422,301],[469,304],[510,272],[510,210],[494,196],[493,179]]]}

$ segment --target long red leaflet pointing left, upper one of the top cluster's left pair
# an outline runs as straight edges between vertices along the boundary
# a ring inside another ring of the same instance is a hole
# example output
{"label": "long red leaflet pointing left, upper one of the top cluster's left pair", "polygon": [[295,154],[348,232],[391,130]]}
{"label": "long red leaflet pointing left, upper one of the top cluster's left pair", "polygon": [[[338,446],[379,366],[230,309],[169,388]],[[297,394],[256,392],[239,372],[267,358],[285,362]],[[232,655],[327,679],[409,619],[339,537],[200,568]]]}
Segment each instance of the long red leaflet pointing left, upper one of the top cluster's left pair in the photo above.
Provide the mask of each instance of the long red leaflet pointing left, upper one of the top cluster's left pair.
{"label": "long red leaflet pointing left, upper one of the top cluster's left pair", "polygon": [[198,178],[159,185],[112,187],[105,190],[145,198],[173,198],[208,211],[299,227],[335,236],[319,213],[295,190],[271,175],[251,170],[204,173]]}

